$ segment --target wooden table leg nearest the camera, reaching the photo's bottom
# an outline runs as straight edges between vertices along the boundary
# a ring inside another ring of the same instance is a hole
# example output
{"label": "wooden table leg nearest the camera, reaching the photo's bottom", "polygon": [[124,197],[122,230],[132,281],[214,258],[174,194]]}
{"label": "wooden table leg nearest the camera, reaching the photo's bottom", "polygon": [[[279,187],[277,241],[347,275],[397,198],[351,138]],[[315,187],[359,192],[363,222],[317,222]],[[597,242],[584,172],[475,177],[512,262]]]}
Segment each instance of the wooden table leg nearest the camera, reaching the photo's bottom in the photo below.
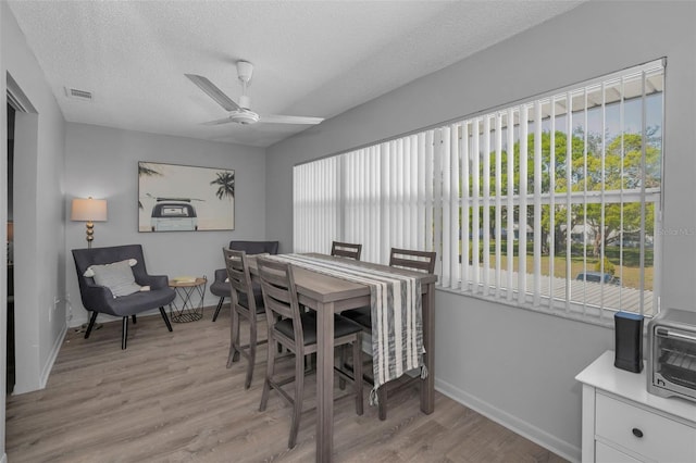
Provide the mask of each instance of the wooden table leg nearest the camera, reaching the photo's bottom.
{"label": "wooden table leg nearest the camera, reaching the photo's bottom", "polygon": [[316,461],[334,451],[334,304],[316,306]]}

